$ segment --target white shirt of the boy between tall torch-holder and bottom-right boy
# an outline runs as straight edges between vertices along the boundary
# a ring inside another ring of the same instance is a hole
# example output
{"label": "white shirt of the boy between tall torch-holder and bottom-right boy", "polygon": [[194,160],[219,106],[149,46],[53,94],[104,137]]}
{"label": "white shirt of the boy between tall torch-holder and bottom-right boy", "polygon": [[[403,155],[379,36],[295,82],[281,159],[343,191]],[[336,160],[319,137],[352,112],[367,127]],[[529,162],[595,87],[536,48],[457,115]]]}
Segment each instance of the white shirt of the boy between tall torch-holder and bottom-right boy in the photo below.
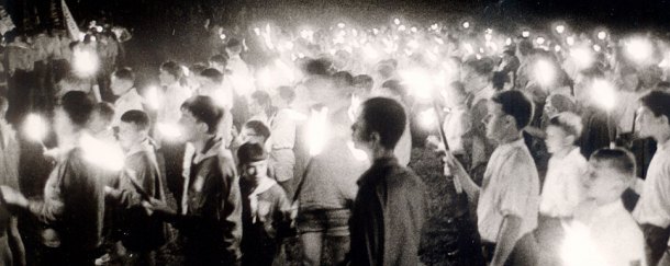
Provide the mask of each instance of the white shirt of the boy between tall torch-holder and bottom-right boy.
{"label": "white shirt of the boy between tall torch-holder and bottom-right boy", "polygon": [[562,158],[549,159],[543,187],[539,212],[555,218],[572,217],[574,208],[584,199],[583,178],[589,163],[579,148]]}

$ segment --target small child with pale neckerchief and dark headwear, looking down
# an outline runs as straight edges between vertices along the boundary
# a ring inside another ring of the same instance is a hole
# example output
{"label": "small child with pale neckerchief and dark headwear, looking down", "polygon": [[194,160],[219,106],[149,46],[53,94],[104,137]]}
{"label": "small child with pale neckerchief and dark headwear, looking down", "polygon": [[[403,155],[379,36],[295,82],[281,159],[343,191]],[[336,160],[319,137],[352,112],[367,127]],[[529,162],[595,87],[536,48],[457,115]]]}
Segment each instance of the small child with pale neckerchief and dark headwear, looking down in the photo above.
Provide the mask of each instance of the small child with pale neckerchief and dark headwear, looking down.
{"label": "small child with pale neckerchief and dark headwear, looking down", "polygon": [[267,176],[268,153],[260,144],[244,143],[237,158],[242,173],[242,265],[272,265],[290,224],[290,204],[281,186]]}

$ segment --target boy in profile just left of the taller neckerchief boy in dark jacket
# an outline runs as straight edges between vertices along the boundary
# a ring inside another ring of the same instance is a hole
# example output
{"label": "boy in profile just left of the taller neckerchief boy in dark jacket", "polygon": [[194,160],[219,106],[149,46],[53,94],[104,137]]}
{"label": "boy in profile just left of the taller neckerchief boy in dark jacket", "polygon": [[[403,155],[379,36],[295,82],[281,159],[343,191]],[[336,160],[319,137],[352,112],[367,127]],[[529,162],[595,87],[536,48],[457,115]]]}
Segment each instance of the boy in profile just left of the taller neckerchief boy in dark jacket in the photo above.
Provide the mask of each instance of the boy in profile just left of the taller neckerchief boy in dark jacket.
{"label": "boy in profile just left of the taller neckerchief boy in dark jacket", "polygon": [[154,250],[166,240],[165,224],[148,217],[142,207],[144,197],[165,200],[163,180],[155,147],[148,137],[149,117],[133,109],[121,116],[119,142],[125,152],[125,175],[118,188],[105,187],[108,198],[119,203],[121,210],[121,242],[129,251],[126,265],[154,265]]}

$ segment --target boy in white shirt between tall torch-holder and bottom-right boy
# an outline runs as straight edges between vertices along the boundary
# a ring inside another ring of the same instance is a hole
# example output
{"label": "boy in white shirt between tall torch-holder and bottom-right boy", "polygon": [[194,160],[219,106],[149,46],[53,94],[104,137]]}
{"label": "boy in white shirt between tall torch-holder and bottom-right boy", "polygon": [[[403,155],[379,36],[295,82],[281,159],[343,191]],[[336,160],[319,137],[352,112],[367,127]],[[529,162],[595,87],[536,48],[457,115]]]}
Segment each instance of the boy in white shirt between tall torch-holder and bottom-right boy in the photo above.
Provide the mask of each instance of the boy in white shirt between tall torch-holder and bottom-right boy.
{"label": "boy in white shirt between tall torch-holder and bottom-right boy", "polygon": [[549,120],[546,129],[547,150],[551,153],[540,195],[537,240],[545,252],[543,265],[557,265],[556,240],[562,239],[562,219],[572,218],[583,200],[582,177],[587,174],[587,159],[576,141],[582,131],[581,118],[573,113],[560,113]]}

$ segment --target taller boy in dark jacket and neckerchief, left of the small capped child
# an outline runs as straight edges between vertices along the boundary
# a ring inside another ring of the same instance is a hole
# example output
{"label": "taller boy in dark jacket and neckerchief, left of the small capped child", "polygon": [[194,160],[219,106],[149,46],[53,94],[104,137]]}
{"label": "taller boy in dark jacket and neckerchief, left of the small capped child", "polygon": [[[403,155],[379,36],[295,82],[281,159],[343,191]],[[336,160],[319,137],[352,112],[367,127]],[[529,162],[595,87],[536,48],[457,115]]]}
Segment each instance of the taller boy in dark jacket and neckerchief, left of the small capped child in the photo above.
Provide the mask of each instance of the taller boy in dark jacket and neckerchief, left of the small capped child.
{"label": "taller boy in dark jacket and neckerchief, left of the small capped child", "polygon": [[183,238],[185,265],[236,265],[242,239],[242,200],[233,160],[217,136],[223,109],[211,97],[194,96],[181,105],[182,138],[194,148],[187,160],[180,211],[152,199]]}

